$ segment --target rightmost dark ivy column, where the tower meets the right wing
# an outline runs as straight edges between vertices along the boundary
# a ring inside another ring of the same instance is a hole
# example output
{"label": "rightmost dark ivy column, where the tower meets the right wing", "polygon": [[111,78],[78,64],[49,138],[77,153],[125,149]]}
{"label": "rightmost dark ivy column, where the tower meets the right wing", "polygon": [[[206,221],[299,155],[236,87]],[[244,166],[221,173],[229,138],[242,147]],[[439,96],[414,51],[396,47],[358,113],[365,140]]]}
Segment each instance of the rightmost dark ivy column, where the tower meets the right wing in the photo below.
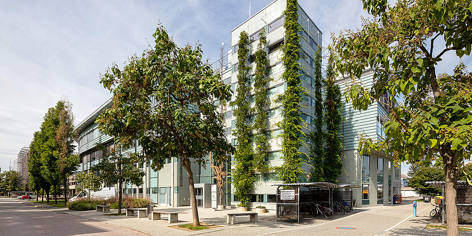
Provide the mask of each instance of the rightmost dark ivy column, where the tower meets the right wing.
{"label": "rightmost dark ivy column, where the tower meets the right wing", "polygon": [[328,66],[326,67],[326,100],[325,100],[325,123],[326,123],[326,155],[324,163],[325,181],[329,183],[338,183],[338,177],[341,174],[343,164],[341,162],[342,143],[339,140],[338,132],[342,123],[340,110],[341,91],[335,84],[336,73],[333,70],[333,55],[329,56]]}

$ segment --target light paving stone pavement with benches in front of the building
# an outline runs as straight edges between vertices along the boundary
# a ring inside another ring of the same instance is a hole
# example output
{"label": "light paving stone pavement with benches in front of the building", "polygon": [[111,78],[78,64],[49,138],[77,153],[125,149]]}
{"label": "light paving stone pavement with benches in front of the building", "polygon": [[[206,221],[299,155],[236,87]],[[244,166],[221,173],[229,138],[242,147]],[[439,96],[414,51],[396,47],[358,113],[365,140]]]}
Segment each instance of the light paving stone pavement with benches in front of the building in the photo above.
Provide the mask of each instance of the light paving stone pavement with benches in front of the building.
{"label": "light paving stone pavement with benches in front of the building", "polygon": [[[149,235],[446,235],[446,230],[444,229],[425,229],[427,224],[439,224],[439,222],[429,218],[429,211],[432,209],[432,206],[429,203],[422,202],[418,202],[418,217],[416,218],[412,217],[411,203],[404,201],[401,205],[355,208],[342,216],[335,214],[335,217],[332,219],[313,218],[311,215],[303,215],[300,223],[265,220],[252,223],[249,222],[249,217],[237,217],[235,225],[226,224],[226,214],[237,212],[235,209],[212,211],[208,208],[199,208],[201,222],[217,224],[223,227],[193,232],[169,228],[167,227],[169,224],[166,219],[150,221],[125,216],[108,217],[96,211],[70,211],[66,208],[55,208],[42,204],[34,205],[41,205],[50,210],[97,222],[134,229]],[[181,212],[179,214],[179,222],[170,225],[191,223],[190,207],[158,208]],[[115,212],[116,210],[112,209],[110,213]],[[273,215],[274,212],[272,211],[259,214],[259,218]],[[472,235],[472,231],[460,231],[460,235]]]}

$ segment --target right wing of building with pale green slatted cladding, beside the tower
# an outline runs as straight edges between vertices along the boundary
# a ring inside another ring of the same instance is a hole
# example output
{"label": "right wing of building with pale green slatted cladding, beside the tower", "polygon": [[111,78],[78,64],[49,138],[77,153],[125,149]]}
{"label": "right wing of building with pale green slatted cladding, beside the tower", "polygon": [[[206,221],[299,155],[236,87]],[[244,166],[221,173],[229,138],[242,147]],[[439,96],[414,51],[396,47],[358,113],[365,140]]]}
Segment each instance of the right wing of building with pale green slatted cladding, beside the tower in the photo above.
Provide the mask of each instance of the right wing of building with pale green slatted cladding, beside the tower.
{"label": "right wing of building with pale green slatted cladding, beside the tower", "polygon": [[[365,89],[373,85],[372,70],[366,70],[358,80]],[[344,91],[352,83],[352,78],[339,78],[337,84]],[[344,100],[344,98],[343,98]],[[372,151],[370,155],[359,152],[361,136],[373,141],[384,140],[382,129],[384,121],[390,113],[388,95],[373,102],[365,111],[352,107],[352,102],[343,102],[342,116],[344,117],[340,136],[343,141],[344,170],[338,179],[340,183],[361,186],[353,189],[353,199],[357,199],[357,207],[391,204],[394,194],[401,191],[401,166],[395,166],[390,156],[385,153]],[[393,105],[395,106],[395,105]],[[360,201],[361,200],[361,201]]]}

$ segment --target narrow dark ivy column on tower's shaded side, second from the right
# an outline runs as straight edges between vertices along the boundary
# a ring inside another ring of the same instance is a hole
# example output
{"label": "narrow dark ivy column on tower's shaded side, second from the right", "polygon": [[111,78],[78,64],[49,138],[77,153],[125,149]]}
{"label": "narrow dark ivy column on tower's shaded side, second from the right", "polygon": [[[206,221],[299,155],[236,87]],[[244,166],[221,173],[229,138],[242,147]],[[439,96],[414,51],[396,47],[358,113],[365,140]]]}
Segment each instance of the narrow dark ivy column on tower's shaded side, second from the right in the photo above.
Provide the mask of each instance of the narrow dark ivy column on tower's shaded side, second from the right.
{"label": "narrow dark ivy column on tower's shaded side, second from the right", "polygon": [[311,182],[323,182],[323,97],[321,95],[323,77],[321,75],[321,48],[318,48],[314,58],[314,117],[316,121],[314,127],[316,131],[311,132],[311,146],[310,146],[310,165],[313,167],[311,173]]}

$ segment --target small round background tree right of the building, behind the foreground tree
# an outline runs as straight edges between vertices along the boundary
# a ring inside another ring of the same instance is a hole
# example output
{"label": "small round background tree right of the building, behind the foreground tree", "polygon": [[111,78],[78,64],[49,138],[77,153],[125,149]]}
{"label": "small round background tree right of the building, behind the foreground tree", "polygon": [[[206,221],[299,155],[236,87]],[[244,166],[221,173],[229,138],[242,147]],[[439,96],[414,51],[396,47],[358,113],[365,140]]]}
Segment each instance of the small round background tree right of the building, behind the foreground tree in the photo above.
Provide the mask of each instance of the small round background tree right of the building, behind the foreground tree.
{"label": "small round background tree right of the building, behind the foreground tree", "polygon": [[435,168],[432,166],[422,166],[408,178],[408,187],[415,188],[415,192],[423,195],[441,195],[441,190],[438,188],[430,187],[429,184],[425,184],[428,181],[444,181],[444,170]]}

